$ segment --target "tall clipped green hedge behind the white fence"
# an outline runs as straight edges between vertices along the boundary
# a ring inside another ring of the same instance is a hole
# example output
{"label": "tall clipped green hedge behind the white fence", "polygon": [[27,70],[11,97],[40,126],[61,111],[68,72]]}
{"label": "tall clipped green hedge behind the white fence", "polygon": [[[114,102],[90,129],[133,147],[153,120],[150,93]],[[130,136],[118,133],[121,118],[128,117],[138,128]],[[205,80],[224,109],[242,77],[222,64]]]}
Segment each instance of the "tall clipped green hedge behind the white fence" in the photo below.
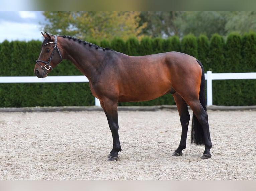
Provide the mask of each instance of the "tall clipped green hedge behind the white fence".
{"label": "tall clipped green hedge behind the white fence", "polygon": [[[88,40],[89,41],[89,40]],[[96,44],[97,41],[91,40]],[[4,41],[0,43],[0,76],[34,76],[35,60],[41,51],[41,41]],[[227,39],[214,34],[196,38],[190,34],[180,40],[149,37],[140,42],[136,38],[123,41],[115,38],[98,45],[131,56],[178,51],[198,58],[205,72],[256,72],[256,33],[243,36],[231,33]],[[70,62],[63,60],[50,74],[82,75]],[[119,103],[119,105],[173,105],[171,95],[152,101]],[[256,80],[214,80],[214,105],[256,105]],[[94,105],[88,83],[13,83],[0,84],[0,107],[87,106]]]}

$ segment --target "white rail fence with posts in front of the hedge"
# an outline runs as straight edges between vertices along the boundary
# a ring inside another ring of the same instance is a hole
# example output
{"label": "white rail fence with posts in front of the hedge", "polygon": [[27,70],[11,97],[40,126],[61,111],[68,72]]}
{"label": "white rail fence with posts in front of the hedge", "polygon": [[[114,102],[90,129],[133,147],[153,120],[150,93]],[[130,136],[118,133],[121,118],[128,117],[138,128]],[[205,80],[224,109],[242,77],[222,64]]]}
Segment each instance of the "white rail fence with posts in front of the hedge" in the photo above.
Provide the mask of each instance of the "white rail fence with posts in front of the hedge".
{"label": "white rail fence with posts in front of the hedge", "polygon": [[[256,79],[256,72],[249,73],[212,73],[207,71],[207,105],[213,104],[212,80],[231,80],[231,79]],[[36,76],[3,76],[0,83],[49,83],[49,82],[88,82],[85,76],[48,76],[47,78],[37,78]],[[95,106],[100,106],[99,99],[95,98]]]}

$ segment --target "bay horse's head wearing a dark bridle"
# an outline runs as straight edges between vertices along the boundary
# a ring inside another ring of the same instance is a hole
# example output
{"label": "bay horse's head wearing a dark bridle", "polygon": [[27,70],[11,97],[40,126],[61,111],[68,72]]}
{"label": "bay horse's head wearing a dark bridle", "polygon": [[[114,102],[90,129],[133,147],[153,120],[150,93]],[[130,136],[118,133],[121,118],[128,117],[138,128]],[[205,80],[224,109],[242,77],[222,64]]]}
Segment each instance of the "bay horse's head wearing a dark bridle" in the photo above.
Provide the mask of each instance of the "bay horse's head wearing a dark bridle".
{"label": "bay horse's head wearing a dark bridle", "polygon": [[[42,33],[42,32],[41,32]],[[42,44],[42,50],[38,60],[35,64],[35,75],[38,78],[45,78],[53,68],[62,61],[56,35],[50,35],[45,32],[42,33],[44,41]]]}

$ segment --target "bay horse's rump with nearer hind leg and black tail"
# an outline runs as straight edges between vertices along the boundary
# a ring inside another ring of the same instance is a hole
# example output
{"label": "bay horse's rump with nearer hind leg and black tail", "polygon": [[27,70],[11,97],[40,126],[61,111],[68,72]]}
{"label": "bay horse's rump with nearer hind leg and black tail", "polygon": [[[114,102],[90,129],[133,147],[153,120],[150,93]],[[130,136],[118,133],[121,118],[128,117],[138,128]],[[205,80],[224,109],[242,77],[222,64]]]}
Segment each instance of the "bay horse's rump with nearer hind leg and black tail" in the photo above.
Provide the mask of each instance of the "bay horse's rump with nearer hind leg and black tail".
{"label": "bay horse's rump with nearer hind leg and black tail", "polygon": [[212,143],[206,112],[203,66],[194,57],[182,53],[177,55],[170,60],[171,82],[176,93],[193,111],[191,142],[199,145],[205,144],[203,158],[209,158]]}

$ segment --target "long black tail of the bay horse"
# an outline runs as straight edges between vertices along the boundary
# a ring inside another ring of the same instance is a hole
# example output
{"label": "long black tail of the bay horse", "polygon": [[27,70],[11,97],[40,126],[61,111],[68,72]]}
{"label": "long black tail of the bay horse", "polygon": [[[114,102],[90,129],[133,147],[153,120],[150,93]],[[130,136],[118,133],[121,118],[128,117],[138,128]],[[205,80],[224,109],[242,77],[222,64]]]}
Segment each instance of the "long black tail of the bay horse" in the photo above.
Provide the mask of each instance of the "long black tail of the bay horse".
{"label": "long black tail of the bay horse", "polygon": [[[201,85],[200,85],[200,91],[199,91],[199,101],[201,105],[203,106],[204,110],[206,109],[206,100],[205,100],[205,73],[204,68],[201,62],[197,60],[198,64],[202,68],[202,76],[201,76]],[[191,143],[197,144],[197,145],[203,145],[205,144],[204,138],[203,138],[203,128],[201,124],[199,123],[196,115],[193,113],[192,116],[192,133],[191,133]]]}

